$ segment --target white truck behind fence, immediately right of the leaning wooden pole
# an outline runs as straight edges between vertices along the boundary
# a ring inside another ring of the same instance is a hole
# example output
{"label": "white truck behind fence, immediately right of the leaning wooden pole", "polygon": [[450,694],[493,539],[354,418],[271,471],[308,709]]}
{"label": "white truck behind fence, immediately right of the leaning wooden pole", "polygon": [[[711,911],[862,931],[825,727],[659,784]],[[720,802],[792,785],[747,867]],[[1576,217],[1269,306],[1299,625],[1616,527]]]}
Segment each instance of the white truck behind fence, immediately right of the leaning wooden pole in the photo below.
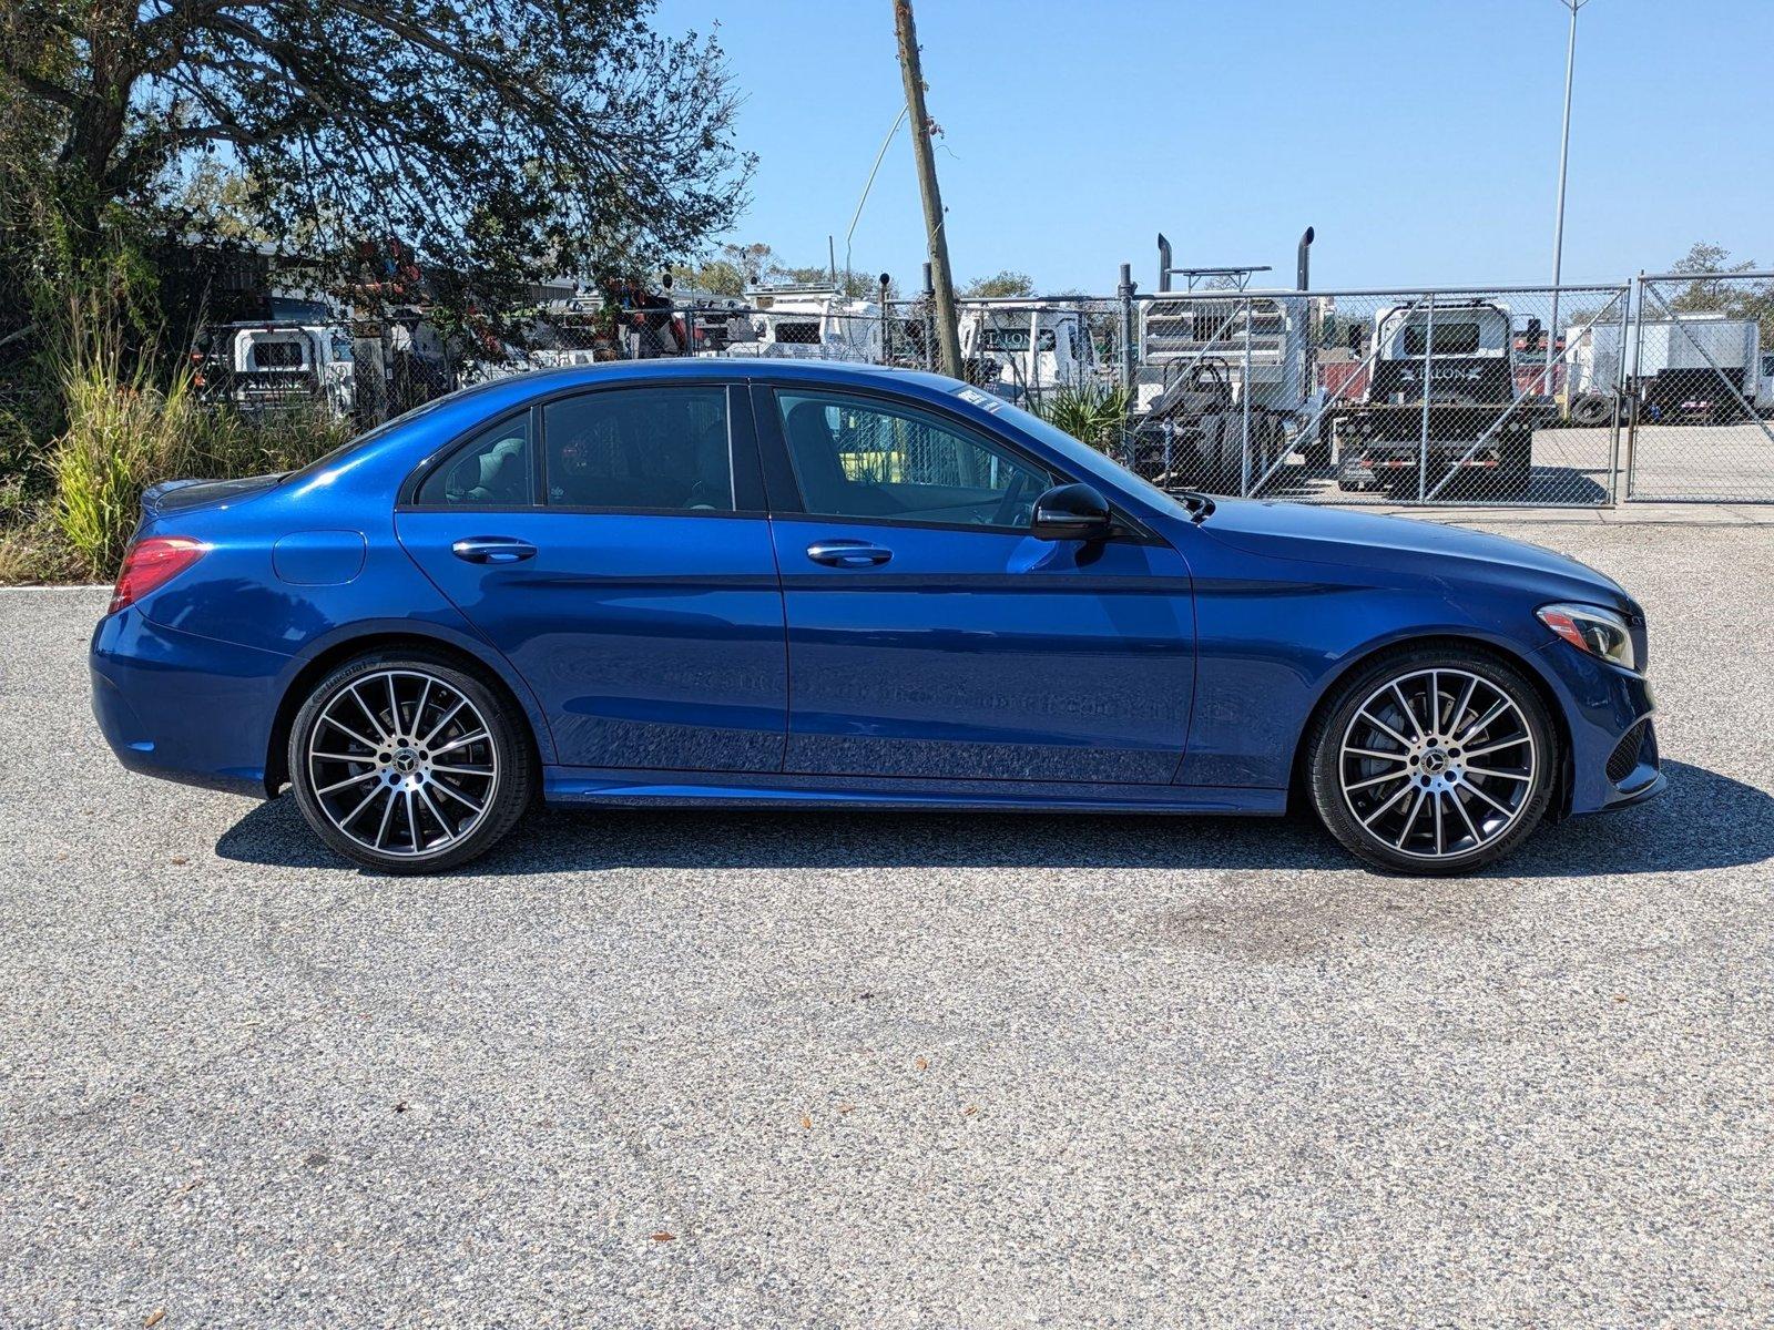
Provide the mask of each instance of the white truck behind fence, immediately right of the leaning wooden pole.
{"label": "white truck behind fence, immediately right of the leaning wooden pole", "polygon": [[967,381],[1013,403],[1100,376],[1089,316],[1063,300],[963,300],[956,305]]}

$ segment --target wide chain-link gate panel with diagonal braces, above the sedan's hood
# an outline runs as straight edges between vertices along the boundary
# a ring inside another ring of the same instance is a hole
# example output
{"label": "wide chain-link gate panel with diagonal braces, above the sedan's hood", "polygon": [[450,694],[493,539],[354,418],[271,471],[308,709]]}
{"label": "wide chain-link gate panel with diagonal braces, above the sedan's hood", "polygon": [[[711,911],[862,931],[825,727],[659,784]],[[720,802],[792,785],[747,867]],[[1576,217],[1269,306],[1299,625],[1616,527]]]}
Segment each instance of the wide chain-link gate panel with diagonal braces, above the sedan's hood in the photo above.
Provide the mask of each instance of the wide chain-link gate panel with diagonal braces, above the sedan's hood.
{"label": "wide chain-link gate panel with diagonal braces, above the sedan's hood", "polygon": [[1141,296],[1121,459],[1158,484],[1221,495],[1607,504],[1618,415],[1572,417],[1566,342],[1618,335],[1627,296],[1625,286]]}

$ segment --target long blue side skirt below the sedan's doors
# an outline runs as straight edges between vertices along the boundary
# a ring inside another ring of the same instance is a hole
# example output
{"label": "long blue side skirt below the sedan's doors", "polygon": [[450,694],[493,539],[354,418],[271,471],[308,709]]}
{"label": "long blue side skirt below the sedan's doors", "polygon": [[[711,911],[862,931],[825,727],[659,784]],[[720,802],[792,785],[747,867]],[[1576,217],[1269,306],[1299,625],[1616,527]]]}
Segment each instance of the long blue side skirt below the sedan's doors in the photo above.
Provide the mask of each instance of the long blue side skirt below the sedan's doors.
{"label": "long blue side skirt below the sedan's doors", "polygon": [[880,780],[761,771],[642,771],[545,766],[548,803],[729,809],[1004,809],[1024,812],[1180,812],[1277,818],[1284,789],[1100,786],[1041,780]]}

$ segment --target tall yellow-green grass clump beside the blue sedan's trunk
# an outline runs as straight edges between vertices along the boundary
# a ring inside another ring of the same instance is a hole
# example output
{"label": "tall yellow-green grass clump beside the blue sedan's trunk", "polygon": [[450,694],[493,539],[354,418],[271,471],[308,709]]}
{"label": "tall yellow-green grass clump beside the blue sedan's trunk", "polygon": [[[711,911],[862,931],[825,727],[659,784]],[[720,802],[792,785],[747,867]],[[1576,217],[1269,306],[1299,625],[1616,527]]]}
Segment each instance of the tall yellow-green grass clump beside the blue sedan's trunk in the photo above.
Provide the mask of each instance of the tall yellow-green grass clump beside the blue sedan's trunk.
{"label": "tall yellow-green grass clump beside the blue sedan's trunk", "polygon": [[[153,349],[124,351],[124,325],[101,301],[75,309],[60,356],[67,429],[50,452],[50,473],[55,527],[80,576],[117,569],[151,484],[284,472],[351,434],[349,422],[318,404],[247,417],[202,403],[183,367],[160,374]],[[0,571],[16,575],[5,559]]]}

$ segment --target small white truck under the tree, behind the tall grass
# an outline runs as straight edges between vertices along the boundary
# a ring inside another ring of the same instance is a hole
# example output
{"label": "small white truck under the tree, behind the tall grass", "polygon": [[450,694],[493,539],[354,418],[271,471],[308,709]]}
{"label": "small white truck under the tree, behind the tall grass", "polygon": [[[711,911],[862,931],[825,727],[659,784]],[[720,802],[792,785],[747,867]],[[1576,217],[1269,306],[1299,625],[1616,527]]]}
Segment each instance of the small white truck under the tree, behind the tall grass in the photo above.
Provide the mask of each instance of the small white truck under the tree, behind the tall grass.
{"label": "small white truck under the tree, behind the tall grass", "polygon": [[312,401],[346,417],[357,404],[351,333],[341,325],[211,325],[192,349],[192,371],[206,401],[245,411]]}

